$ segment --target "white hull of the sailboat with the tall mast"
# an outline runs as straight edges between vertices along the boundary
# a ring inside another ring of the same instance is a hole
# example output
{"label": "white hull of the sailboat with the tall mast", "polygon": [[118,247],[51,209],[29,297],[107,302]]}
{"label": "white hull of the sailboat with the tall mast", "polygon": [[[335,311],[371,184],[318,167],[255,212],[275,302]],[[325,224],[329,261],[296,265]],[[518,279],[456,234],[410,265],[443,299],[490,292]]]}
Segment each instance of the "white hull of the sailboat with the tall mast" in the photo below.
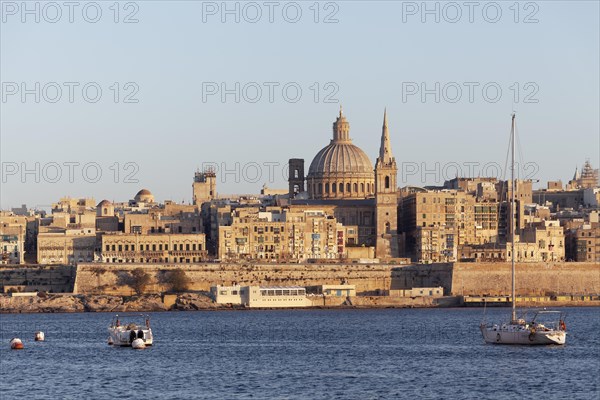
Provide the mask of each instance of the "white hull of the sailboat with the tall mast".
{"label": "white hull of the sailboat with the tall mast", "polygon": [[560,330],[534,331],[519,326],[482,326],[481,333],[486,343],[521,345],[563,345],[567,334]]}

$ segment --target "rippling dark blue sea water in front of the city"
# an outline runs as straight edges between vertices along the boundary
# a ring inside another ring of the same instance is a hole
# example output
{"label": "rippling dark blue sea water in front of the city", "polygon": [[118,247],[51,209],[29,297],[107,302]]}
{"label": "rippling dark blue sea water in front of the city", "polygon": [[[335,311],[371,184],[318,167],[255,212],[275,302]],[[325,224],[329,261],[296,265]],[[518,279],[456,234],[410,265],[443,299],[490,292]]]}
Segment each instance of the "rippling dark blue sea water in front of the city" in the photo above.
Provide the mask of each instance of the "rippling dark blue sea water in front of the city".
{"label": "rippling dark blue sea water in front of the city", "polygon": [[598,399],[600,309],[564,311],[562,347],[486,345],[482,309],[153,313],[145,350],[112,314],[3,314],[0,399]]}

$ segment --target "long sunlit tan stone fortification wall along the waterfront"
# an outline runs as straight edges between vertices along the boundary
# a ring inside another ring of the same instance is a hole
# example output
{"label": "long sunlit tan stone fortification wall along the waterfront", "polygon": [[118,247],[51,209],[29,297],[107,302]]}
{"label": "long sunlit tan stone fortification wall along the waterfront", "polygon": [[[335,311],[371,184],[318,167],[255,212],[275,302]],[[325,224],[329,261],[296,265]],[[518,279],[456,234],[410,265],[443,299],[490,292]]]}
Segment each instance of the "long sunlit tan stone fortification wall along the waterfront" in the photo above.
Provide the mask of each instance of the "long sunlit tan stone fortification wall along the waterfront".
{"label": "long sunlit tan stone fortification wall along the waterfront", "polygon": [[[80,264],[76,293],[130,295],[127,277],[143,268],[151,282],[146,291],[169,289],[168,271],[182,269],[190,279],[190,290],[208,291],[215,285],[313,286],[356,285],[359,295],[414,287],[444,288],[445,295],[505,295],[510,293],[510,263],[446,263],[428,265],[378,264]],[[600,264],[527,263],[517,264],[517,295],[600,293]]]}

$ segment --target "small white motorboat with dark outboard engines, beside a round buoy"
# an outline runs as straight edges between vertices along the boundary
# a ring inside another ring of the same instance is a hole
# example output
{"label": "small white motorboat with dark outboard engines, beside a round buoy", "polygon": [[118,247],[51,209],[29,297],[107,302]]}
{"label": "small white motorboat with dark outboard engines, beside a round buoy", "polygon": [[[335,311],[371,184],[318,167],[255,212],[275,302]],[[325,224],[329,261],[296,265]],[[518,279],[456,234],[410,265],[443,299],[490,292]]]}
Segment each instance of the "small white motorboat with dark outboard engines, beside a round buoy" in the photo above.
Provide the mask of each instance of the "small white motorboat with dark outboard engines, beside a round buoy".
{"label": "small white motorboat with dark outboard engines, beside a round buoy", "polygon": [[[130,319],[130,321],[125,322],[121,319],[123,317]],[[136,318],[135,321],[133,321],[134,318]],[[111,320],[108,335],[108,343],[113,346],[134,348],[152,346],[150,316],[144,314],[122,314],[119,316],[117,314]]]}

